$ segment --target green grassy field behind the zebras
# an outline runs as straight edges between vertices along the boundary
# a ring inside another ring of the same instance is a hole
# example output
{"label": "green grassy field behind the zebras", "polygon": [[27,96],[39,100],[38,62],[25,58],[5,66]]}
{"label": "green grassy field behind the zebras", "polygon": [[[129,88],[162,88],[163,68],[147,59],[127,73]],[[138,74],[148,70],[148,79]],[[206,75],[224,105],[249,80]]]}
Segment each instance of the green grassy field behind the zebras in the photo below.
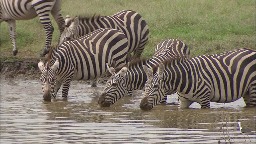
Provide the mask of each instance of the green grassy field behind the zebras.
{"label": "green grassy field behind the zebras", "polygon": [[[185,42],[192,56],[256,46],[255,0],[63,0],[62,16],[112,15],[135,10],[148,23],[150,38],[142,56],[150,58],[156,44],[177,38]],[[58,42],[54,25],[52,44]],[[45,32],[38,17],[16,21],[18,57],[38,57],[44,48]],[[1,23],[1,59],[12,56],[6,22]]]}

